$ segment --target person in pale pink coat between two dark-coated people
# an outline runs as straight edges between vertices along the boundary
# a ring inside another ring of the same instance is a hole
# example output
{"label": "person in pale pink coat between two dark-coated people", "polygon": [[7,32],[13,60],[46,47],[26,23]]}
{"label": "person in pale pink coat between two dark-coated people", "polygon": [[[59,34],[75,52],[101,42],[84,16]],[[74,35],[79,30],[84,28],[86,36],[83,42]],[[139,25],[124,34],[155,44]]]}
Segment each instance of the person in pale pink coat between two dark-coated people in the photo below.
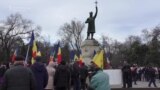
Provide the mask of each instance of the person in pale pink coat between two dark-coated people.
{"label": "person in pale pink coat between two dark-coated people", "polygon": [[47,68],[47,72],[48,72],[48,84],[46,86],[46,90],[54,90],[54,86],[53,86],[53,80],[54,80],[54,75],[55,75],[55,68],[54,68],[54,62],[51,61],[49,62]]}

